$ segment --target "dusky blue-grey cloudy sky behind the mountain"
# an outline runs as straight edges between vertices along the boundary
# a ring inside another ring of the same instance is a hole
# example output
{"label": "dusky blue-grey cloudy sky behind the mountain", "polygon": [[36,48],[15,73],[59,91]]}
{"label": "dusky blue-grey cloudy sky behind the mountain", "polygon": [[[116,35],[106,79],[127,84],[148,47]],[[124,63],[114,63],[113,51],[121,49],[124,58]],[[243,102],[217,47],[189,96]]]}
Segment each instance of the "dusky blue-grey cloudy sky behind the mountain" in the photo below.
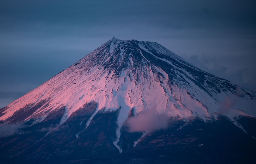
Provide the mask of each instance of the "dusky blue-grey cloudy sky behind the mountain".
{"label": "dusky blue-grey cloudy sky behind the mountain", "polygon": [[0,108],[116,37],[256,91],[255,0],[1,0]]}

